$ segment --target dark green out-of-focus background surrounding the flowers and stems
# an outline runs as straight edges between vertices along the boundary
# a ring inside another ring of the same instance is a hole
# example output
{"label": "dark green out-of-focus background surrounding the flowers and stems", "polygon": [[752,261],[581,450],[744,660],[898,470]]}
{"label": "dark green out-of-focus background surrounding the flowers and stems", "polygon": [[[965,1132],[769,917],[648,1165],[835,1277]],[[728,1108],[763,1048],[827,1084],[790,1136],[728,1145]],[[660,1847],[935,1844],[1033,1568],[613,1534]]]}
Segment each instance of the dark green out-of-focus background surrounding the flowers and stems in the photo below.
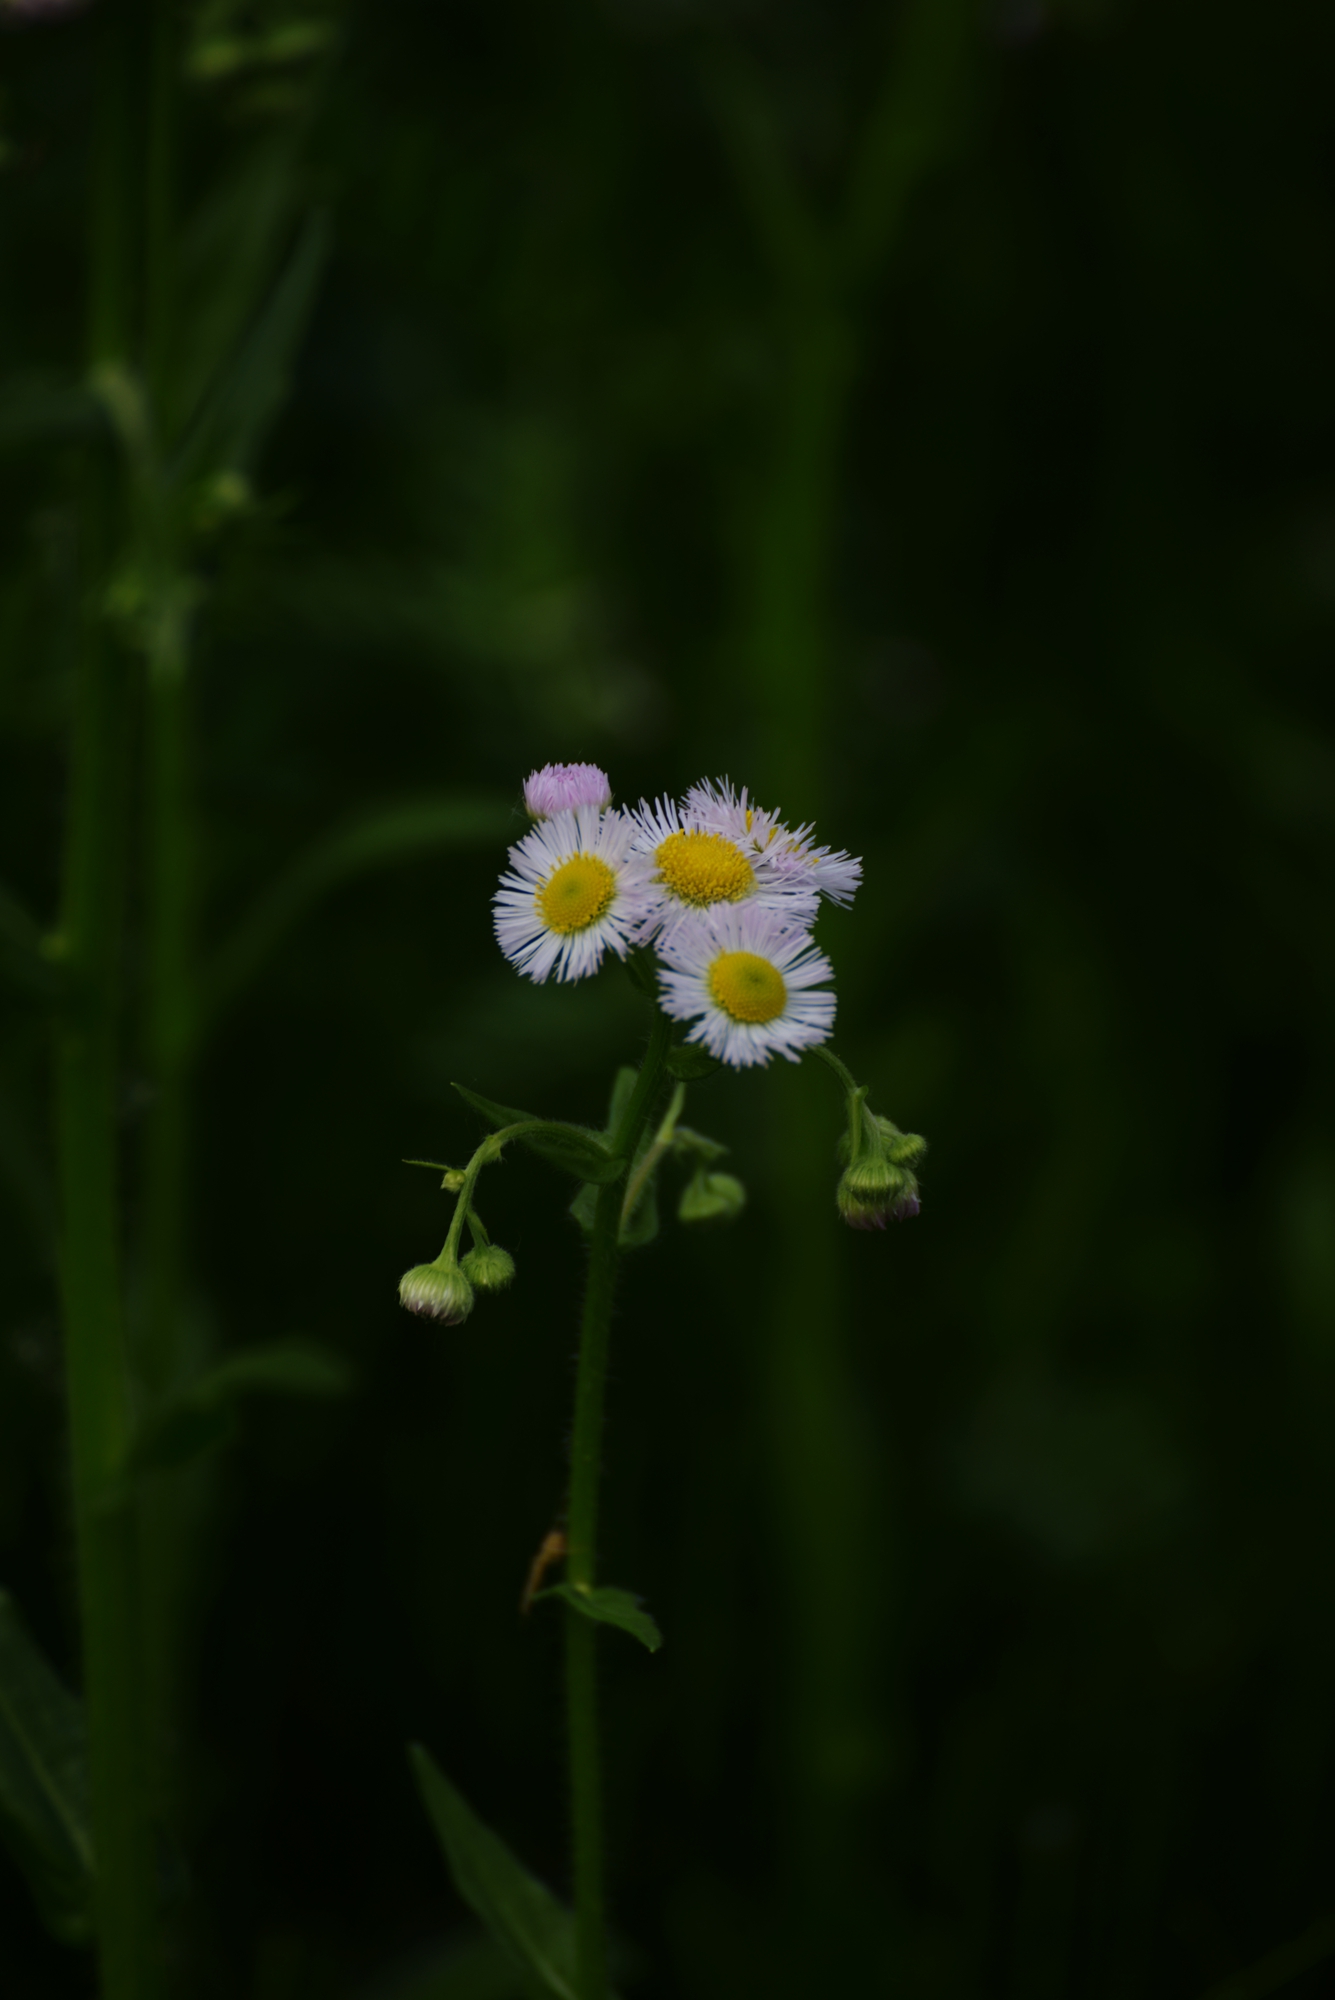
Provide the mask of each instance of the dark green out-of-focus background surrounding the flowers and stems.
{"label": "dark green out-of-focus background surrounding the flowers and stems", "polygon": [[[82,366],[100,12],[0,16],[6,378]],[[186,94],[186,296],[196,204],[248,162],[258,200],[268,146],[288,234],[334,226],[258,502],[198,564],[200,964],[360,814],[496,810],[294,898],[198,1074],[194,1346],[306,1334],[358,1392],[252,1400],[162,1476],[182,1992],[516,1990],[408,1738],[566,1886],[556,1620],[516,1598],[564,1478],[568,1184],[490,1176],[520,1276],[464,1328],[394,1286],[446,1222],[400,1158],[476,1138],[452,1078],[598,1122],[642,1046],[616,968],[532,988],[490,932],[522,776],[594,758],[622,800],[727,772],[865,856],[819,924],[837,1046],[931,1140],[921,1218],[853,1236],[829,1080],[711,1080],[687,1118],[749,1208],[626,1272],[606,1574],[668,1638],[604,1648],[626,1988],[1315,2000],[1335,16],[380,0],[260,60],[282,18],[184,16],[252,38]],[[923,22],[901,214],[833,310],[773,228],[797,190],[829,238]],[[0,458],[0,874],[44,920],[86,448]],[[132,910],[132,1298],[142,980]],[[46,1022],[0,1010],[0,1582],[76,1680]],[[90,1978],[6,1864],[6,2000]]]}

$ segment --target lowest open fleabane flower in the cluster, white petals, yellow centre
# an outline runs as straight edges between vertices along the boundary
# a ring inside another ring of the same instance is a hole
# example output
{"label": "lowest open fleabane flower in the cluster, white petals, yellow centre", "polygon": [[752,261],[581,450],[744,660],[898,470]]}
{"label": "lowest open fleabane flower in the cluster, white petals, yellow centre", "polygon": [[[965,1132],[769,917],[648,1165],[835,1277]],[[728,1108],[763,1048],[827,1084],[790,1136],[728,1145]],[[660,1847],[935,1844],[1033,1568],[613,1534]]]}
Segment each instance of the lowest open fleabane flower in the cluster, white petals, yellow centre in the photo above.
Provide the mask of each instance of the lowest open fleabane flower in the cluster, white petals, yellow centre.
{"label": "lowest open fleabane flower in the cluster, white petals, yellow centre", "polygon": [[664,1012],[693,1020],[687,1042],[703,1042],[733,1070],[827,1042],[835,996],[825,954],[781,910],[741,904],[685,916],[658,944]]}

